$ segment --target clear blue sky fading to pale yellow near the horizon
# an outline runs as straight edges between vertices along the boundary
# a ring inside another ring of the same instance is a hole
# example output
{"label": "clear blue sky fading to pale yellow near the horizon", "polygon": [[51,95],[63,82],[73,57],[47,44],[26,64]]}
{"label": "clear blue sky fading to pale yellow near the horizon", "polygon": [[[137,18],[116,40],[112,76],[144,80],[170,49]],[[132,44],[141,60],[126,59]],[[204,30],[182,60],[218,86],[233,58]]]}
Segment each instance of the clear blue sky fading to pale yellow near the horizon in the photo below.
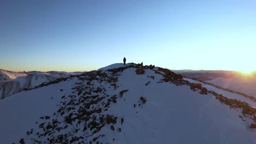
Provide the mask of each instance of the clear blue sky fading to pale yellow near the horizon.
{"label": "clear blue sky fading to pale yellow near the horizon", "polygon": [[0,1],[0,68],[255,70],[256,1]]}

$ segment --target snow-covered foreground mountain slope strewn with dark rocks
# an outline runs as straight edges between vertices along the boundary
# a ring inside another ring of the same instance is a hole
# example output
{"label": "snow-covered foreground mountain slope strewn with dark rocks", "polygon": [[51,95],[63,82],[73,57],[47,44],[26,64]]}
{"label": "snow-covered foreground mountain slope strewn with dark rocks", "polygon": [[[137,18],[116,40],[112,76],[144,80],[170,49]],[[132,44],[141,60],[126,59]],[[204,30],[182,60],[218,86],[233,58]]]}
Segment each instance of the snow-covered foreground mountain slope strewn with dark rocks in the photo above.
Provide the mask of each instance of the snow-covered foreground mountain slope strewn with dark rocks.
{"label": "snow-covered foreground mountain slope strewn with dark rocks", "polygon": [[1,143],[256,143],[242,95],[167,69],[110,67],[1,100]]}

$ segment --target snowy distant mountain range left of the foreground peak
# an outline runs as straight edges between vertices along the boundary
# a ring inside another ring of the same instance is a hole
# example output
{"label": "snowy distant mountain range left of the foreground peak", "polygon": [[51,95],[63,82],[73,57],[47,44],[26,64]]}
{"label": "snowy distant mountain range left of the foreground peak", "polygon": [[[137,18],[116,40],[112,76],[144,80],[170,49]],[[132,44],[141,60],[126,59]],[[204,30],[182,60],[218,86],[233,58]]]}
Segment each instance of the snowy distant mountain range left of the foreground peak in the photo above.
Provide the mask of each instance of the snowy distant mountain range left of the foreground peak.
{"label": "snowy distant mountain range left of the foreground peak", "polygon": [[33,88],[44,82],[53,81],[61,77],[78,75],[83,72],[67,73],[65,71],[24,71],[13,72],[0,69],[0,99],[21,91],[24,88]]}

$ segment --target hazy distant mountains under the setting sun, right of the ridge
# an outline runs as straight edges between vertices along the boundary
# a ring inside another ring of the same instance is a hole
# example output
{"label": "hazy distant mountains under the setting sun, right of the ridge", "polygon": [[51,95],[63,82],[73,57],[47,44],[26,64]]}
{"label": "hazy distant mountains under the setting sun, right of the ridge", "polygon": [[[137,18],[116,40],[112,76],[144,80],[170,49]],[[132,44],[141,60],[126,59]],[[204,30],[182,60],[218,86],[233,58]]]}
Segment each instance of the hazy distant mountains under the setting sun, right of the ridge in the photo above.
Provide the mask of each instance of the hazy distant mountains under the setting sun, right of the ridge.
{"label": "hazy distant mountains under the setting sun, right of the ridge", "polygon": [[219,87],[245,93],[256,98],[256,73],[243,74],[223,70],[173,70],[177,74],[209,82]]}

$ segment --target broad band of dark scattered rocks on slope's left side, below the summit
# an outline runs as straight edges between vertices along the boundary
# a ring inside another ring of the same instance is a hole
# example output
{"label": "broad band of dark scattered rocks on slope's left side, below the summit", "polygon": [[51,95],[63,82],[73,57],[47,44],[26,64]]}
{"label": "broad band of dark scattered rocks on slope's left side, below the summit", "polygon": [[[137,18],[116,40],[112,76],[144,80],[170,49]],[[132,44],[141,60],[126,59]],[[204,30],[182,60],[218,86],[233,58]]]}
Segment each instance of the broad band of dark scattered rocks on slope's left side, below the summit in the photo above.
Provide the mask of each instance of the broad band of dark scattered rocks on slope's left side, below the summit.
{"label": "broad band of dark scattered rocks on slope's left side, below the summit", "polygon": [[[79,141],[78,143],[85,143],[84,141],[79,139],[79,137],[75,136],[75,134],[78,133],[79,129],[84,131],[82,137],[91,137],[92,135],[101,131],[101,129],[105,127],[106,124],[112,124],[113,126],[110,128],[114,129],[114,124],[117,124],[118,117],[111,114],[108,114],[107,116],[104,115],[103,112],[107,111],[108,109],[104,109],[104,111],[102,111],[102,107],[109,107],[110,104],[117,103],[117,94],[109,97],[109,95],[106,94],[106,89],[102,87],[102,85],[95,88],[95,84],[97,82],[91,81],[97,80],[99,83],[102,83],[103,81],[117,82],[117,79],[97,73],[98,72],[90,72],[89,75],[91,75],[92,77],[85,75],[83,75],[82,77],[78,76],[78,79],[80,81],[86,80],[85,82],[75,83],[75,87],[72,88],[74,89],[74,93],[78,92],[79,97],[77,97],[77,95],[69,95],[66,101],[61,101],[59,105],[59,110],[55,112],[55,116],[61,116],[60,118],[62,118],[62,120],[60,121],[59,118],[53,118],[53,122],[50,121],[48,124],[43,123],[42,125],[40,125],[39,129],[42,129],[43,132],[38,132],[38,140],[34,139],[34,143],[39,143],[40,139],[44,139],[43,137],[46,137],[49,143],[74,143],[77,141]],[[88,82],[89,85],[83,84]],[[115,85],[115,87],[118,86]],[[128,89],[120,92],[119,94],[122,97],[123,94],[127,91]],[[98,94],[93,95],[94,93]],[[62,99],[64,100],[66,98],[62,97]],[[48,120],[46,118],[44,119]],[[72,126],[69,124],[71,124]],[[65,127],[60,125],[65,125]],[[62,129],[65,129],[65,131],[70,131],[72,129],[72,131],[64,135],[63,133],[60,134],[60,130]],[[102,137],[103,136],[104,135],[102,135]],[[91,143],[91,140],[89,140],[88,142]],[[96,143],[101,142],[100,140],[98,140]]]}

